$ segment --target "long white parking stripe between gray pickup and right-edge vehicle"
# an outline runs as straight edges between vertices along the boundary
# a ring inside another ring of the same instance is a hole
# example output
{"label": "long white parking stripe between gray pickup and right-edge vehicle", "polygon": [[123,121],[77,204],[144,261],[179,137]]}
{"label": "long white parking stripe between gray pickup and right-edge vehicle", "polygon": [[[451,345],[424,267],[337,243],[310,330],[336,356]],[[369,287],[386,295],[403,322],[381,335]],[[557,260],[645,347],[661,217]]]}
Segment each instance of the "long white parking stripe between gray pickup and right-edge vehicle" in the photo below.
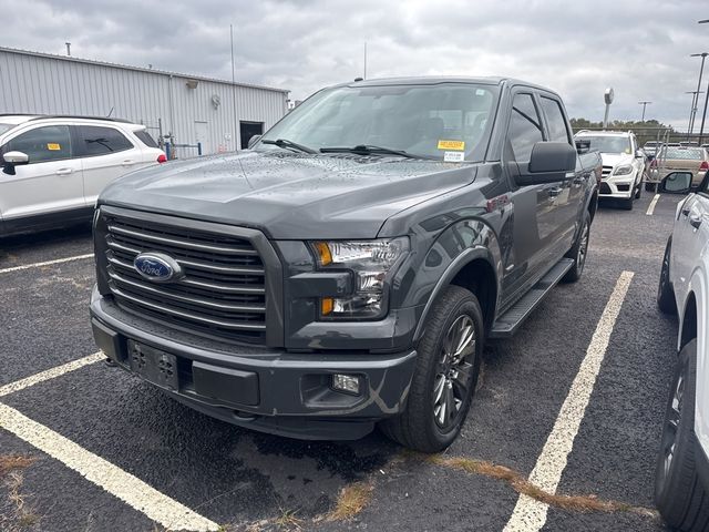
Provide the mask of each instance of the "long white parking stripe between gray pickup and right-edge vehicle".
{"label": "long white parking stripe between gray pickup and right-edge vehicle", "polygon": [[[566,468],[568,454],[574,447],[586,407],[593,393],[600,365],[606,355],[610,334],[618,319],[623,301],[633,280],[633,272],[623,272],[610,294],[606,308],[598,320],[586,356],[578,374],[572,382],[566,400],[554,423],[536,466],[530,474],[530,482],[543,490],[555,493],[562,473]],[[546,523],[548,505],[527,495],[520,495],[504,532],[537,532]]]}

